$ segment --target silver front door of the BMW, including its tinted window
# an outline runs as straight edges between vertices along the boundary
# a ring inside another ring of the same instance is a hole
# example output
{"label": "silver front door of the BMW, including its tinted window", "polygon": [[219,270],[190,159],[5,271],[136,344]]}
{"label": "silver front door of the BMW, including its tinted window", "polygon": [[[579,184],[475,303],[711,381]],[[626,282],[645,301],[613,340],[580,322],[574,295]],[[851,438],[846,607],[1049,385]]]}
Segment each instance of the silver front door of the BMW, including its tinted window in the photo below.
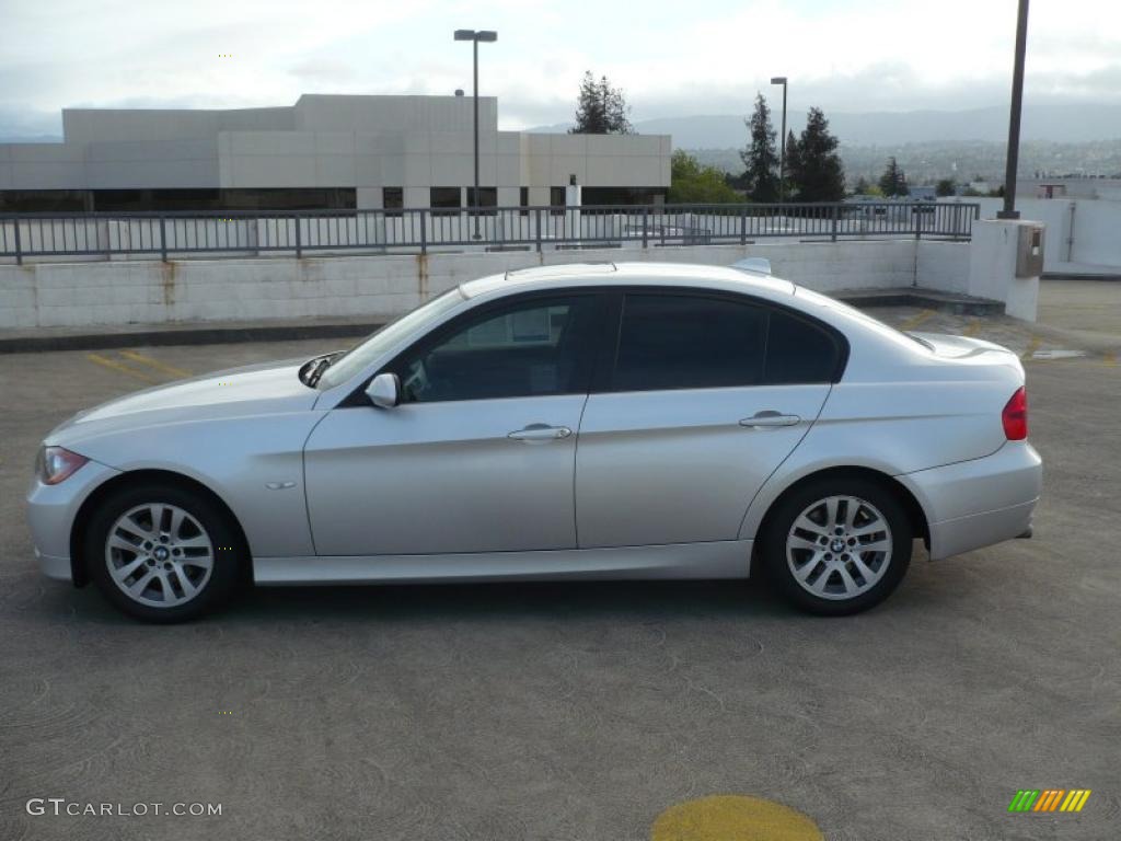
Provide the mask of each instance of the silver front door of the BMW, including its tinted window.
{"label": "silver front door of the BMW, including its tinted window", "polygon": [[386,370],[401,403],[332,410],[305,447],[319,555],[576,546],[573,470],[601,299],[507,298]]}

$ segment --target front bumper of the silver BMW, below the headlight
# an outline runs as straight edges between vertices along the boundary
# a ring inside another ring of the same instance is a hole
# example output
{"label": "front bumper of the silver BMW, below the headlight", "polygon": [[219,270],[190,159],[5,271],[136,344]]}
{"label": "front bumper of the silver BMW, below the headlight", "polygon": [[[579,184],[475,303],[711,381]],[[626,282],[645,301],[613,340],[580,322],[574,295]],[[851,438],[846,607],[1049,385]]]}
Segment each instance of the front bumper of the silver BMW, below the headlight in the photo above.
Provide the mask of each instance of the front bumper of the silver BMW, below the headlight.
{"label": "front bumper of the silver BMW, below the headlight", "polygon": [[36,477],[27,491],[27,525],[31,530],[35,557],[48,579],[73,581],[71,532],[78,508],[105,480],[119,470],[90,461],[58,484],[44,484]]}

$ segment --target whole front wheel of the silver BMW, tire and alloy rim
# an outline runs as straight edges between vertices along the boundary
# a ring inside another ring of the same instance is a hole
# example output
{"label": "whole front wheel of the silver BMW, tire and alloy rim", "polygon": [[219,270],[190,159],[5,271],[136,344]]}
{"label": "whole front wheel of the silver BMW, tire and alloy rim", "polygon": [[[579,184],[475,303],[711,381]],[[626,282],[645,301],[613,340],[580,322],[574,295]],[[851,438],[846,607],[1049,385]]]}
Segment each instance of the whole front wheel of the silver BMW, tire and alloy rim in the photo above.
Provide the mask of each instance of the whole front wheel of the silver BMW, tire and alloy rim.
{"label": "whole front wheel of the silver BMW, tire and alloy rim", "polygon": [[83,549],[90,577],[114,607],[160,623],[216,610],[249,561],[229,515],[175,484],[145,483],[104,499]]}

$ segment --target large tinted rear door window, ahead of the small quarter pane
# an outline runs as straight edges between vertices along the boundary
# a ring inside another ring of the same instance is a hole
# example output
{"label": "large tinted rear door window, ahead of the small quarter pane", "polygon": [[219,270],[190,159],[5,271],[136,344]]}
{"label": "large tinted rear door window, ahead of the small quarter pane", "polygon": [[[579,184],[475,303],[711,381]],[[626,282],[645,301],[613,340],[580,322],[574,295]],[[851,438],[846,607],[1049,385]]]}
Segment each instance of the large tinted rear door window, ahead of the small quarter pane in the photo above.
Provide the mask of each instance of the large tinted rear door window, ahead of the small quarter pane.
{"label": "large tinted rear door window, ahead of the small quarter pane", "polygon": [[750,386],[760,381],[767,311],[685,295],[628,295],[613,388]]}

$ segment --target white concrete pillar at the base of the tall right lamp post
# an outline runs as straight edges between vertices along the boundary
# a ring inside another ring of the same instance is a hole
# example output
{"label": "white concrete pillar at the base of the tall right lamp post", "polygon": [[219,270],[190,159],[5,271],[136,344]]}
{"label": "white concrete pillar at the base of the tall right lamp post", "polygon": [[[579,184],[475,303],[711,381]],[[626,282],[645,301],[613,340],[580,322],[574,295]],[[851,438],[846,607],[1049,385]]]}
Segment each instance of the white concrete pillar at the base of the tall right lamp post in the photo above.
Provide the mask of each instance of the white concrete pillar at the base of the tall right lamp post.
{"label": "white concrete pillar at the base of the tall right lamp post", "polygon": [[[973,223],[970,243],[967,294],[1004,302],[1004,312],[1025,321],[1036,320],[1039,301],[1039,274],[1043,271],[1043,244],[1036,260],[1017,259],[1022,243],[1040,222],[1025,220],[979,220]],[[1017,265],[1021,271],[1018,276]]]}

